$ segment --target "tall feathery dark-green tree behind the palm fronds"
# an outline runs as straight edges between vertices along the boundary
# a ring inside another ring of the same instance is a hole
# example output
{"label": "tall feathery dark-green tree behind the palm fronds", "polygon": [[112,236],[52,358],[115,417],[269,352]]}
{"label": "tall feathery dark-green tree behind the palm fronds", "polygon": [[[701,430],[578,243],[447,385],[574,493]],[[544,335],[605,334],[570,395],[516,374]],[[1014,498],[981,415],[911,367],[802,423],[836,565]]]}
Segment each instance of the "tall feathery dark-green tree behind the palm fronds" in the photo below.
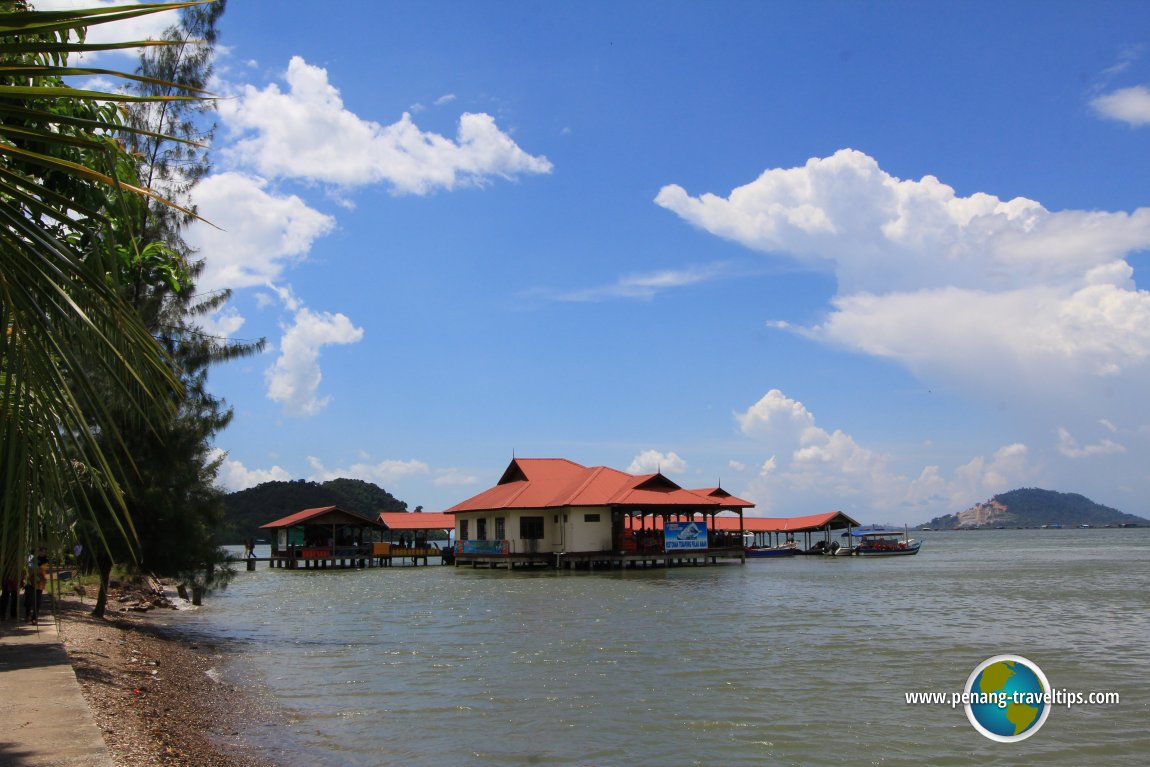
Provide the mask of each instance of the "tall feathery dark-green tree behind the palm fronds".
{"label": "tall feathery dark-green tree behind the palm fronds", "polygon": [[[133,229],[144,247],[123,263],[125,299],[136,308],[168,354],[183,383],[167,417],[144,428],[124,414],[122,446],[138,470],[125,480],[128,509],[140,540],[139,568],[177,576],[199,588],[218,582],[221,554],[214,532],[223,521],[223,492],[216,489],[220,459],[212,440],[231,421],[231,411],[207,386],[213,365],[253,354],[262,340],[232,343],[206,333],[201,317],[220,308],[230,291],[199,294],[195,279],[205,262],[183,238],[192,221],[190,193],[210,163],[198,144],[212,132],[210,109],[202,103],[170,101],[172,83],[201,90],[210,76],[215,22],[224,3],[185,8],[168,28],[168,45],[146,48],[140,56],[136,93],[160,100],[130,105],[128,143],[139,162],[140,178],[177,209],[145,201],[132,210]],[[126,552],[117,552],[121,558]]]}

